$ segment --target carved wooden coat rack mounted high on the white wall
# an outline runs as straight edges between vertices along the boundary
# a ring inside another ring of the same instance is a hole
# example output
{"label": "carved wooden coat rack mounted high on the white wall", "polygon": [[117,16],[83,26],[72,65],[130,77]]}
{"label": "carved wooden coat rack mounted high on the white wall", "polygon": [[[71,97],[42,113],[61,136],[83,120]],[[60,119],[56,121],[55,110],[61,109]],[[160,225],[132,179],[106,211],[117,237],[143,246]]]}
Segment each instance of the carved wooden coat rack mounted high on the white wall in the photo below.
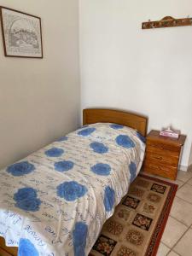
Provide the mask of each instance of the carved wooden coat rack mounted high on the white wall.
{"label": "carved wooden coat rack mounted high on the white wall", "polygon": [[170,27],[170,26],[192,26],[192,18],[174,19],[166,16],[162,20],[143,22],[142,29]]}

